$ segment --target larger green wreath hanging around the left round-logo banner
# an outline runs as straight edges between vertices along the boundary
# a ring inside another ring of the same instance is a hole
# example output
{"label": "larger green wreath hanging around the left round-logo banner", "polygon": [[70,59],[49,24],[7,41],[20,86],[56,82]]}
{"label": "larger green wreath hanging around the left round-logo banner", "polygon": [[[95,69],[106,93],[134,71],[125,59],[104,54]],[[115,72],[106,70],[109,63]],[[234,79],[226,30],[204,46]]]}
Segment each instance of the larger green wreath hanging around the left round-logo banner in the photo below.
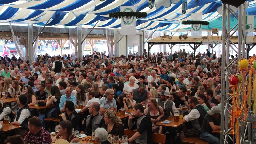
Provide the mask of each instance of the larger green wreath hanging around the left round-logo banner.
{"label": "larger green wreath hanging around the left round-logo banner", "polygon": [[136,18],[146,18],[146,12],[111,12],[109,13],[110,18],[121,18],[121,17],[136,17]]}

